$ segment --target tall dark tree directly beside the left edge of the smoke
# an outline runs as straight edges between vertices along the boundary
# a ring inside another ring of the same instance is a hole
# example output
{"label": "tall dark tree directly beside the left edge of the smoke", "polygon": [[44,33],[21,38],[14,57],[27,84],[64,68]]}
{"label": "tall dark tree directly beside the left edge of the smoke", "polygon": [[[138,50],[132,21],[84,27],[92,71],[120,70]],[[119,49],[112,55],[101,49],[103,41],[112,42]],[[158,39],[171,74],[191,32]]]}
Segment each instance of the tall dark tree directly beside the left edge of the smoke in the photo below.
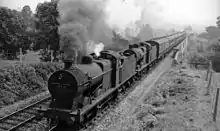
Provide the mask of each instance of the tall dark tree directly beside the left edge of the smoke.
{"label": "tall dark tree directly beside the left edge of the smoke", "polygon": [[[58,26],[59,22],[57,18],[59,17],[59,12],[57,9],[56,0],[51,2],[39,3],[36,8],[36,28],[38,30],[38,40],[37,45],[43,47],[44,49],[50,46],[50,49],[54,50],[54,58],[56,58],[56,53],[59,50],[59,34]],[[45,41],[44,43],[39,43]]]}

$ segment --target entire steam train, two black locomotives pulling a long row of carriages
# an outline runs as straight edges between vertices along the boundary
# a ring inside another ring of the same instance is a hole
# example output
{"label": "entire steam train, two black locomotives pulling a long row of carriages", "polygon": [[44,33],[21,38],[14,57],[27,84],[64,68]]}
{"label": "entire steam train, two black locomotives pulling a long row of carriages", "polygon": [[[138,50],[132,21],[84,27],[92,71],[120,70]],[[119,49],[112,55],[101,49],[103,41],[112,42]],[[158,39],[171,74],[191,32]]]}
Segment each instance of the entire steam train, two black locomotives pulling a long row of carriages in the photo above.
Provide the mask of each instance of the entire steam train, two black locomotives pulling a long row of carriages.
{"label": "entire steam train, two black locomotives pulling a long row of carriages", "polygon": [[100,56],[84,56],[82,64],[64,61],[64,69],[54,72],[48,80],[51,103],[39,111],[50,126],[65,125],[78,130],[185,37],[183,31],[130,44],[119,52],[103,50]]}

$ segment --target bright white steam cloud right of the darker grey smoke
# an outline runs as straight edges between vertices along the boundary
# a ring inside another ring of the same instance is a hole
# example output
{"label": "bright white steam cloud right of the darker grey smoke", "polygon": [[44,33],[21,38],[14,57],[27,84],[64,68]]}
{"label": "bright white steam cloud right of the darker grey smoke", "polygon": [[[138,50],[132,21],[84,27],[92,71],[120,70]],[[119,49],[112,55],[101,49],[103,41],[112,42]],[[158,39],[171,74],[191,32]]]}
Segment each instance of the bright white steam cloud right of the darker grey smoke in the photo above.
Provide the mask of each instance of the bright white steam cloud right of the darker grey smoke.
{"label": "bright white steam cloud right of the darker grey smoke", "polygon": [[108,24],[117,29],[123,38],[136,37],[139,33],[137,21],[141,21],[142,9],[136,5],[135,0],[109,0],[106,12]]}

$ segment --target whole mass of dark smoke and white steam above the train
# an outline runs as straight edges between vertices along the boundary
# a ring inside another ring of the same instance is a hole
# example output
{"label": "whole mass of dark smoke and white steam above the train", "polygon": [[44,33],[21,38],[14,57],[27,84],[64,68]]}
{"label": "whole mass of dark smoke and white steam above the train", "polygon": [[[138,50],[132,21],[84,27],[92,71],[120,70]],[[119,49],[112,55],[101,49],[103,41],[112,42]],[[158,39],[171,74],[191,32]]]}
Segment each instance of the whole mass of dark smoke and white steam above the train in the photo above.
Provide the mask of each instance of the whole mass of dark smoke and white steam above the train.
{"label": "whole mass of dark smoke and white steam above the train", "polygon": [[147,40],[153,37],[152,28],[167,27],[160,1],[59,0],[61,50],[72,58],[76,50],[79,56],[100,51],[100,43],[118,47],[137,37]]}

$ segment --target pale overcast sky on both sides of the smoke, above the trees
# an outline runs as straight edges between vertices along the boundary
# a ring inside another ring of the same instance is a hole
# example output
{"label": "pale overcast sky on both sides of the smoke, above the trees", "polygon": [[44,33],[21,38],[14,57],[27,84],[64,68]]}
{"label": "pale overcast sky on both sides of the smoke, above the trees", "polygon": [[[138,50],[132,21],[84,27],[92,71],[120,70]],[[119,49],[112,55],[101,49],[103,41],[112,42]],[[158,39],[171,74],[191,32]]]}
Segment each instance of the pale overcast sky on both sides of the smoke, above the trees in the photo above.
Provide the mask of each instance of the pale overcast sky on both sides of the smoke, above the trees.
{"label": "pale overcast sky on both sides of the smoke, above the trees", "polygon": [[[29,5],[35,11],[37,4],[43,1],[45,0],[0,0],[0,4],[13,9],[21,9],[24,5]],[[153,11],[148,12],[148,16],[145,18],[146,21],[152,15],[159,18],[159,22],[163,21],[178,25],[195,24],[199,27],[205,27],[215,25],[216,17],[220,15],[220,0],[136,0],[136,2],[142,8],[145,6],[146,9],[149,7],[148,4],[151,3],[149,9]],[[128,12],[128,14],[130,13]]]}

